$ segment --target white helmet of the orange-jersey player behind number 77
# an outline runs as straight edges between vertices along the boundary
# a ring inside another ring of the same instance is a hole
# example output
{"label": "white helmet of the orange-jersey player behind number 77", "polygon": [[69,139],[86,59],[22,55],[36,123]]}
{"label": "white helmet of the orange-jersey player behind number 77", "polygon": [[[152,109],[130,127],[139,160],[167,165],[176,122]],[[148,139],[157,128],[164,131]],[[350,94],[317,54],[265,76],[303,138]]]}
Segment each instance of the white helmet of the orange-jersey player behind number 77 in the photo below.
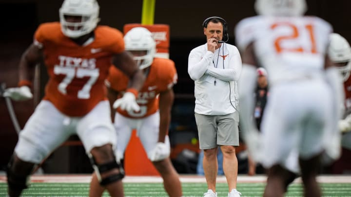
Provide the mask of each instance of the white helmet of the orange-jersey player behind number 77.
{"label": "white helmet of the orange-jersey player behind number 77", "polygon": [[124,36],[124,43],[126,51],[146,51],[145,55],[134,55],[133,57],[141,70],[153,63],[156,53],[156,42],[148,29],[144,27],[131,29]]}

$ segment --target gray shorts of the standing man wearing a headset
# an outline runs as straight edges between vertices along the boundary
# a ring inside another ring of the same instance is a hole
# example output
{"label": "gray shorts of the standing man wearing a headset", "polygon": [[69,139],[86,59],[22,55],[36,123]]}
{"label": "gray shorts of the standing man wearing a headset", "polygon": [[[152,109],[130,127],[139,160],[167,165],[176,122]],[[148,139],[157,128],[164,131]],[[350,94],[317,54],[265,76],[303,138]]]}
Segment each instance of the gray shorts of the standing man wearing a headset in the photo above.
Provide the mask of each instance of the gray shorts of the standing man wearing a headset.
{"label": "gray shorts of the standing man wearing a headset", "polygon": [[195,113],[200,149],[218,145],[239,145],[239,113],[227,115],[203,115]]}

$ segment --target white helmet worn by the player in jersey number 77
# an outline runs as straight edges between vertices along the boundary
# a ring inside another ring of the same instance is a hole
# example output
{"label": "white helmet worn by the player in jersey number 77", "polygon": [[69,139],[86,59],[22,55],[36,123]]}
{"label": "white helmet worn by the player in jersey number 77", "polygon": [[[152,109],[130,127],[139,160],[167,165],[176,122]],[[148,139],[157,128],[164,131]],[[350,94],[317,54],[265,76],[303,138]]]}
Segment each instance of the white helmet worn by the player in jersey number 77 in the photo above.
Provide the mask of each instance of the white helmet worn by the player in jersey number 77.
{"label": "white helmet worn by the player in jersey number 77", "polygon": [[[77,38],[92,32],[100,18],[96,0],[64,0],[59,9],[61,30],[65,36]],[[81,17],[80,22],[68,22],[65,16]]]}

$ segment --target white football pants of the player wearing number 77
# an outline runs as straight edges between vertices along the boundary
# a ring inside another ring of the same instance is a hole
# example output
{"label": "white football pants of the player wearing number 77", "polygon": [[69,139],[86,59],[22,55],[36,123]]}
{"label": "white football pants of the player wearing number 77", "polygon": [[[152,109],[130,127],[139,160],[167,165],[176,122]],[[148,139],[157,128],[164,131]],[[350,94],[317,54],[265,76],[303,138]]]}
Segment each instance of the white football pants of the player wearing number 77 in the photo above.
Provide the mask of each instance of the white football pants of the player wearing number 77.
{"label": "white football pants of the player wearing number 77", "polygon": [[68,117],[43,100],[20,132],[15,153],[23,161],[40,163],[74,134],[79,136],[86,153],[104,144],[114,146],[116,133],[110,114],[108,101],[101,101],[83,117]]}

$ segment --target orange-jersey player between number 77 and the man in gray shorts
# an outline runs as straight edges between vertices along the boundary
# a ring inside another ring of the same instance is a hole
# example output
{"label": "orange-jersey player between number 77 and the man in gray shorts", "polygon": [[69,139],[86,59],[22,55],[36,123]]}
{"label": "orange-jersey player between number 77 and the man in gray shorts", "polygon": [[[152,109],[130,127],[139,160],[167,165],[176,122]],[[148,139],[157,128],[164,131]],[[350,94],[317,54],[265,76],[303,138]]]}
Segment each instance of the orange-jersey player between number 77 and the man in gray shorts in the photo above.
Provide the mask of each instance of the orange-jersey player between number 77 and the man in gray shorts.
{"label": "orange-jersey player between number 77 and the man in gray shorts", "polygon": [[[126,50],[134,54],[134,60],[144,72],[146,81],[137,96],[140,110],[125,111],[117,108],[116,105],[111,106],[117,132],[117,161],[123,158],[132,130],[136,129],[148,158],[163,178],[168,196],[180,197],[182,189],[178,174],[169,158],[168,137],[174,100],[172,87],[177,81],[175,64],[169,59],[154,58],[156,42],[146,28],[131,29],[124,36],[124,42]],[[109,77],[106,80],[110,101],[114,101],[120,93],[127,90],[129,81],[123,72],[114,67],[110,68]],[[101,196],[102,192],[103,189],[98,186],[96,176],[93,176],[90,197]]]}

